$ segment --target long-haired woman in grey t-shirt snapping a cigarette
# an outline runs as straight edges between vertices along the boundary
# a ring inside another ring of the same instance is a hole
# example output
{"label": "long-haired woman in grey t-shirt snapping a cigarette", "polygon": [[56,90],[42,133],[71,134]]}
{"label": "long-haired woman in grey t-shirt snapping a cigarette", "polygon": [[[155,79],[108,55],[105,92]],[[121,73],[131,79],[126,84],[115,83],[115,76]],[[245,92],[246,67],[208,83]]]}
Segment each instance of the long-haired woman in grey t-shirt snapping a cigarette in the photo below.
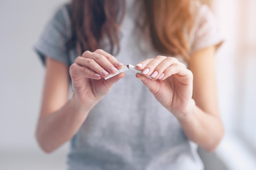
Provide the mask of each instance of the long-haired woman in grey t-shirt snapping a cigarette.
{"label": "long-haired woman in grey t-shirt snapping a cigarette", "polygon": [[[35,46],[46,65],[38,143],[49,153],[72,139],[69,169],[203,169],[197,146],[213,151],[223,135],[221,43],[197,1],[72,0]],[[104,79],[123,63],[140,81],[129,71]]]}

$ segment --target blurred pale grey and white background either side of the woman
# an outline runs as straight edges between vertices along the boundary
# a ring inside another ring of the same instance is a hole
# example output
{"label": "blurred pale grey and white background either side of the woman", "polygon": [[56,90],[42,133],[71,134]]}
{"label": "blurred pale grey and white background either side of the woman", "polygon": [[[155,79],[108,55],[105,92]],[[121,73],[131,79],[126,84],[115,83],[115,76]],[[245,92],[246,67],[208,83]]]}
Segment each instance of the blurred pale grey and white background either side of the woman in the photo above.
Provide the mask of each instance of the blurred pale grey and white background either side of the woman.
{"label": "blurred pale grey and white background either side of the woman", "polygon": [[[0,1],[0,169],[65,169],[68,144],[48,155],[34,132],[44,68],[32,50],[45,24],[65,0]],[[225,137],[214,153],[227,169],[256,167],[255,0],[213,0],[226,37],[216,56]],[[205,153],[203,154],[205,155]],[[211,154],[210,154],[211,155]],[[205,155],[206,167],[216,169]]]}

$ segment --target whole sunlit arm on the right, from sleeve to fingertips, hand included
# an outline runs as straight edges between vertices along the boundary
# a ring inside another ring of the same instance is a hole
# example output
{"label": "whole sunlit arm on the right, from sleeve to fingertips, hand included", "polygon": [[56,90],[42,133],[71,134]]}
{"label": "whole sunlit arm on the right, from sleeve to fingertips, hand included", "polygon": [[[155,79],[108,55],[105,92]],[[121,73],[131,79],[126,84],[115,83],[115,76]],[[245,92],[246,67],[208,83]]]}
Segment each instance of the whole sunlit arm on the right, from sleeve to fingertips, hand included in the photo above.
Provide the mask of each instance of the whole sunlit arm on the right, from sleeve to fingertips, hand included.
{"label": "whole sunlit arm on the right, from sleeve to fingertips, hand included", "polygon": [[216,148],[223,135],[216,96],[214,54],[214,47],[195,52],[189,62],[191,71],[175,58],[157,56],[137,66],[143,72],[149,68],[145,76],[154,75],[155,81],[136,74],[179,120],[187,137],[208,151]]}

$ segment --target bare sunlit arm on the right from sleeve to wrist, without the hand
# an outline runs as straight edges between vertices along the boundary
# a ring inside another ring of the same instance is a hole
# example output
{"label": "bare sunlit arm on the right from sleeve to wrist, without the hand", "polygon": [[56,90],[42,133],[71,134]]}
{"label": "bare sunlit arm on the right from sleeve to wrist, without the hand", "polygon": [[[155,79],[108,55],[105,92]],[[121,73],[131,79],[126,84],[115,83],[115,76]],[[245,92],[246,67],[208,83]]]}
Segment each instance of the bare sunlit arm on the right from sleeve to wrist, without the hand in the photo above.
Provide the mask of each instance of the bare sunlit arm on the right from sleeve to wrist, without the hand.
{"label": "bare sunlit arm on the right from sleeve to wrist, without the hand", "polygon": [[212,46],[191,55],[195,106],[189,116],[179,120],[189,139],[208,151],[217,147],[224,134],[218,111],[215,50]]}

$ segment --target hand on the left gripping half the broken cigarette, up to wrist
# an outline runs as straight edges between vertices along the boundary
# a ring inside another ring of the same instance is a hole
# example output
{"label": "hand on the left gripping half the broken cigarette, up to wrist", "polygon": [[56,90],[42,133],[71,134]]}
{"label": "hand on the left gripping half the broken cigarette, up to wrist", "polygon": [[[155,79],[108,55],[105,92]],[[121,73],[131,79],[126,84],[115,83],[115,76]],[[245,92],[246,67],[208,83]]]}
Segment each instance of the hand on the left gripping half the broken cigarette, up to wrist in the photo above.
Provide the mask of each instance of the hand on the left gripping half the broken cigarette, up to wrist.
{"label": "hand on the left gripping half the broken cigarette, up to wrist", "polygon": [[85,51],[70,66],[70,76],[75,97],[81,105],[93,105],[105,96],[112,85],[124,77],[124,73],[105,80],[124,65],[107,52],[98,49]]}

